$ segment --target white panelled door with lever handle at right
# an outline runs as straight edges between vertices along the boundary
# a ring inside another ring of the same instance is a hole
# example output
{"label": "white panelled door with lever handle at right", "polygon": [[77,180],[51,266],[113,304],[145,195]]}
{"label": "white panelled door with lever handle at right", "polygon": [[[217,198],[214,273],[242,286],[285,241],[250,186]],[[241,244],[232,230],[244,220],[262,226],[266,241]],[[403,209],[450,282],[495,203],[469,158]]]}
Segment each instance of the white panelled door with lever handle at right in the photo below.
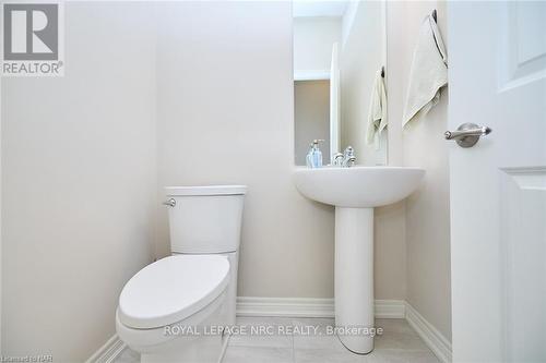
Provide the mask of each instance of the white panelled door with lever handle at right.
{"label": "white panelled door with lever handle at right", "polygon": [[546,2],[448,8],[454,362],[546,362]]}

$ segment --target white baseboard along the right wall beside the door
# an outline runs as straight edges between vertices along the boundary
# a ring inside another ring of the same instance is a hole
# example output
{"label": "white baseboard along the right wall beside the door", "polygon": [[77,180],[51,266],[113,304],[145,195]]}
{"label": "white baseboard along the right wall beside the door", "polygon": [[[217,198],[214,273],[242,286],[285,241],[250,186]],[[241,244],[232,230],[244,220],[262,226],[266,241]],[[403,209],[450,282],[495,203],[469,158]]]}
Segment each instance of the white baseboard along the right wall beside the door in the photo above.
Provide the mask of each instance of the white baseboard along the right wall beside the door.
{"label": "white baseboard along the right wall beside the door", "polygon": [[451,362],[451,342],[408,303],[406,320],[441,362]]}

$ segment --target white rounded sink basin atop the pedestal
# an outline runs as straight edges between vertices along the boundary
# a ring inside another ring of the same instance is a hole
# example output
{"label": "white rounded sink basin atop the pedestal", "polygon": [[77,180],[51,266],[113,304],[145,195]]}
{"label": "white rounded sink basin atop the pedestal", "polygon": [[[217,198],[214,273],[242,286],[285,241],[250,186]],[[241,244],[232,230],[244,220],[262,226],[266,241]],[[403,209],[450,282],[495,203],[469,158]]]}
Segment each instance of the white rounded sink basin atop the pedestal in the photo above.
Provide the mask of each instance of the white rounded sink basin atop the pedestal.
{"label": "white rounded sink basin atop the pedestal", "polygon": [[294,182],[310,199],[337,207],[371,208],[402,201],[425,170],[403,167],[297,169]]}

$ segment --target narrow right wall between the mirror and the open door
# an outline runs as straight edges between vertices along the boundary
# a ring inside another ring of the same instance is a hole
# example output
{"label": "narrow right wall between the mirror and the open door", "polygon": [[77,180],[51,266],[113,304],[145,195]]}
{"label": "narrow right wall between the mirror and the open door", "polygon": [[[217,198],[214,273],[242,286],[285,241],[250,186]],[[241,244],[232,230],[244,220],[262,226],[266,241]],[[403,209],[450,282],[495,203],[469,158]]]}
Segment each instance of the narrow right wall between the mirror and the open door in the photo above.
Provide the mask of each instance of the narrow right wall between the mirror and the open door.
{"label": "narrow right wall between the mirror and the open door", "polygon": [[451,339],[448,92],[425,118],[402,130],[413,49],[423,19],[438,10],[443,40],[447,7],[442,1],[388,2],[388,92],[390,159],[426,169],[420,189],[406,199],[407,301]]}

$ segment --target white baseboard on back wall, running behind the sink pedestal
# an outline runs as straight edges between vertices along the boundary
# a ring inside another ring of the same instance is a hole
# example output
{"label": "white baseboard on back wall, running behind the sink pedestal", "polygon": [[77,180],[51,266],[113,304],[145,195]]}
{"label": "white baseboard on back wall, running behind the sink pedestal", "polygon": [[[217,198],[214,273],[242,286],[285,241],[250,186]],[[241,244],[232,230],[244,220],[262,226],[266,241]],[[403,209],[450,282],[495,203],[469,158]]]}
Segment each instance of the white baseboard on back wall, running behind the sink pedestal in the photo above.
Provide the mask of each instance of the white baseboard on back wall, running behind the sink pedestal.
{"label": "white baseboard on back wall, running behind the sink pedestal", "polygon": [[[403,300],[376,300],[376,317],[404,318]],[[237,298],[238,316],[333,317],[334,300],[317,298]]]}

